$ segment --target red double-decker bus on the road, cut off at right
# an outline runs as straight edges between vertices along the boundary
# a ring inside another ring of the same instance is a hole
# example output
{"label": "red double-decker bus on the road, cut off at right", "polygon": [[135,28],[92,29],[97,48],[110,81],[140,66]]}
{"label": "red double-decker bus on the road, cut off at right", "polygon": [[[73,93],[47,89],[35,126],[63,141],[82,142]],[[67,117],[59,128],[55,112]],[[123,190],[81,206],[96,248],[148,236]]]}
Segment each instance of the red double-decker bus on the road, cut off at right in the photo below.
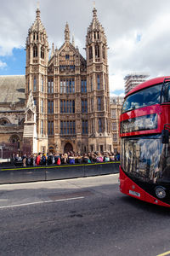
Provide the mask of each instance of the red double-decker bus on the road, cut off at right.
{"label": "red double-decker bus on the road, cut off at right", "polygon": [[170,207],[170,77],[127,93],[120,117],[120,190]]}

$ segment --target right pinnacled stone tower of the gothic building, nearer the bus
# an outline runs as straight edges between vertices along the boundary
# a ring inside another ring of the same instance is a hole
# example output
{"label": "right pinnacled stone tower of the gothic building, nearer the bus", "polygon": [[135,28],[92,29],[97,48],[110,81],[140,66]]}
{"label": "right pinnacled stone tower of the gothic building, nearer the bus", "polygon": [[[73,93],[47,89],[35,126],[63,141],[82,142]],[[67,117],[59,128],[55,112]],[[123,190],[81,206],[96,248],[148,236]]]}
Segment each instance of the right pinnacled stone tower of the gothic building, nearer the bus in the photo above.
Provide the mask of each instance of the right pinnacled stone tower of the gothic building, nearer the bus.
{"label": "right pinnacled stone tower of the gothic building, nearer the bus", "polygon": [[104,152],[112,149],[107,39],[95,7],[93,13],[86,37],[88,149]]}

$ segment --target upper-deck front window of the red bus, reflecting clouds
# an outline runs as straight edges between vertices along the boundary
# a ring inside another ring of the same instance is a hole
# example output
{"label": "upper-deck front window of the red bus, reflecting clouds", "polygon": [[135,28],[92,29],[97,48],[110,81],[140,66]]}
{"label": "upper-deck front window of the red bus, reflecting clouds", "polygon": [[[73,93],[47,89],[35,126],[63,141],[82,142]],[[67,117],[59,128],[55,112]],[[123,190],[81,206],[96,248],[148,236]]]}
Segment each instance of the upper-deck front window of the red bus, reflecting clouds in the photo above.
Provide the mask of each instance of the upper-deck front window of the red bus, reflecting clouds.
{"label": "upper-deck front window of the red bus, reflecting clouds", "polygon": [[122,106],[122,113],[159,104],[161,102],[161,86],[162,84],[157,84],[127,96]]}

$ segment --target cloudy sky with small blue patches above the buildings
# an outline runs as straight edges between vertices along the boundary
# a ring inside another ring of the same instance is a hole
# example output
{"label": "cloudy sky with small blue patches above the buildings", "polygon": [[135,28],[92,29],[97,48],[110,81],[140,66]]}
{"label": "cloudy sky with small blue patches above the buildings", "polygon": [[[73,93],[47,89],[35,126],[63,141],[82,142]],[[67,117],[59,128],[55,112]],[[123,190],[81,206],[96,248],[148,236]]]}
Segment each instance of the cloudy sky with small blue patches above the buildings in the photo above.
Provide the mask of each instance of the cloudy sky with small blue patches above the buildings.
{"label": "cloudy sky with small blue patches above the buildings", "polygon": [[[64,42],[68,21],[75,44],[85,57],[91,0],[40,0],[49,45]],[[25,74],[26,36],[35,20],[36,0],[0,0],[0,75]],[[96,0],[98,19],[108,40],[111,95],[124,93],[127,73],[150,78],[170,73],[170,0]]]}

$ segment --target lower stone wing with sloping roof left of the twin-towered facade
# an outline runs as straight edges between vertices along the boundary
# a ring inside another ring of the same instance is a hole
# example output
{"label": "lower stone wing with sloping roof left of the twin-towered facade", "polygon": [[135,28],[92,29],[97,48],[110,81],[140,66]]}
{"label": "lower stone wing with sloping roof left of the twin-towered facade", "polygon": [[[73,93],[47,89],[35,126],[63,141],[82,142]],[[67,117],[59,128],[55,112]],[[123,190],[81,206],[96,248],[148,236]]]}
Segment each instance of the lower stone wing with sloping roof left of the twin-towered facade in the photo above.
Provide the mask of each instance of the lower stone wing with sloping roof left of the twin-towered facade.
{"label": "lower stone wing with sloping roof left of the twin-towered facade", "polygon": [[15,143],[19,151],[23,148],[25,88],[25,76],[0,77],[0,145]]}

